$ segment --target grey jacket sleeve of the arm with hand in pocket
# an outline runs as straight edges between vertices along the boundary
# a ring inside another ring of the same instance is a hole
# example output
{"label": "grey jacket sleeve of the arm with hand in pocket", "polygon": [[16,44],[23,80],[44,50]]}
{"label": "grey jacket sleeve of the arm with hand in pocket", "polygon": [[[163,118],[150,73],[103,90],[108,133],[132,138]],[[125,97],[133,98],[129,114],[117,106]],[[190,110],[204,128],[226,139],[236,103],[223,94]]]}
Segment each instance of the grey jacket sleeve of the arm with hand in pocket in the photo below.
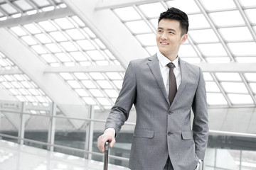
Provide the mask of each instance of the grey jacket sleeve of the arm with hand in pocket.
{"label": "grey jacket sleeve of the arm with hand in pocket", "polygon": [[206,82],[203,79],[203,72],[199,68],[199,80],[196,94],[193,99],[193,138],[196,144],[196,155],[203,160],[208,142],[208,111],[206,101]]}

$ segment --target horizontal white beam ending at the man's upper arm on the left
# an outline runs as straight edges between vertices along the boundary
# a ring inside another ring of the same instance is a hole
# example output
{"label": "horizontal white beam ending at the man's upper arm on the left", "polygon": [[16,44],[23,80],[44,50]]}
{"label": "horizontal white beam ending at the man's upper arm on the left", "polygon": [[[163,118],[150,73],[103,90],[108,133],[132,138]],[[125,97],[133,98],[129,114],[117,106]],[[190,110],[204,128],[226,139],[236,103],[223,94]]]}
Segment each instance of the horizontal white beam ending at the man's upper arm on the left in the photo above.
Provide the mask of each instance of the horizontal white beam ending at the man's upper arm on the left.
{"label": "horizontal white beam ending at the man's upper arm on the left", "polygon": [[[44,73],[60,73],[60,72],[125,72],[121,65],[106,66],[74,66],[74,67],[46,67]],[[0,72],[1,74],[1,72]]]}

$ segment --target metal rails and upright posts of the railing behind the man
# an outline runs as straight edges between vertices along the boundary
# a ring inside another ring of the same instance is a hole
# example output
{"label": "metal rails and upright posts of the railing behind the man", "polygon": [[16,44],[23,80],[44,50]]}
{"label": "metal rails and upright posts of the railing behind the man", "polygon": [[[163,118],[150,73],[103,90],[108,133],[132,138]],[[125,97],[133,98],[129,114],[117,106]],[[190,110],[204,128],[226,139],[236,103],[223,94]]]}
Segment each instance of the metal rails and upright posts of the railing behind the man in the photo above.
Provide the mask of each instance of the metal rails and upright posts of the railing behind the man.
{"label": "metal rails and upright posts of the railing behind the man", "polygon": [[[55,105],[53,105],[53,107],[55,107]],[[55,111],[54,109],[52,111]],[[89,109],[90,115],[93,115],[93,108],[92,106]],[[5,110],[0,110],[0,113],[4,113],[4,114],[8,114],[8,113],[14,113],[17,114],[20,118],[20,126],[18,127],[18,137],[13,136],[13,135],[6,135],[4,133],[0,133],[0,137],[8,137],[14,140],[17,140],[19,144],[23,145],[23,142],[31,142],[34,144],[38,144],[38,145],[44,145],[47,146],[47,149],[50,151],[53,151],[53,148],[59,148],[59,149],[65,149],[68,151],[73,151],[73,152],[82,152],[85,155],[87,155],[85,158],[87,159],[91,159],[91,155],[97,155],[100,157],[103,157],[104,154],[99,153],[99,152],[92,152],[92,133],[93,133],[93,127],[91,126],[90,130],[87,130],[87,137],[85,137],[85,144],[87,144],[87,147],[85,147],[85,149],[78,149],[78,148],[74,148],[74,147],[66,147],[63,145],[55,145],[54,144],[54,134],[55,134],[55,118],[63,118],[63,119],[68,119],[68,120],[81,120],[81,121],[87,121],[88,122],[88,127],[90,127],[92,122],[97,122],[97,123],[105,123],[106,120],[98,120],[98,119],[93,119],[91,118],[73,118],[70,116],[62,116],[62,115],[55,115],[55,113],[50,113],[50,115],[39,115],[39,114],[32,114],[32,113],[23,113],[23,112],[18,112],[18,111],[5,111]],[[24,137],[24,125],[25,123],[23,122],[23,116],[24,115],[31,115],[31,116],[38,116],[38,117],[46,117],[49,118],[51,124],[50,124],[50,128],[48,129],[48,132],[51,134],[48,135],[48,142],[41,142],[41,141],[37,141],[37,140],[31,140],[31,139],[26,139]],[[132,125],[134,126],[135,123],[125,123],[125,125]],[[1,130],[1,129],[0,129]],[[249,133],[240,133],[240,132],[223,132],[223,131],[217,131],[217,130],[210,130],[210,135],[225,135],[225,136],[235,136],[235,137],[252,137],[252,138],[256,138],[256,134],[249,134]],[[50,139],[51,137],[53,137],[52,139]],[[90,145],[90,146],[89,146]],[[118,157],[118,156],[114,156],[111,155],[109,156],[112,159],[117,159],[117,160],[121,160],[124,162],[129,162],[128,158],[124,158],[124,157]],[[203,169],[203,165],[200,167],[200,169]]]}

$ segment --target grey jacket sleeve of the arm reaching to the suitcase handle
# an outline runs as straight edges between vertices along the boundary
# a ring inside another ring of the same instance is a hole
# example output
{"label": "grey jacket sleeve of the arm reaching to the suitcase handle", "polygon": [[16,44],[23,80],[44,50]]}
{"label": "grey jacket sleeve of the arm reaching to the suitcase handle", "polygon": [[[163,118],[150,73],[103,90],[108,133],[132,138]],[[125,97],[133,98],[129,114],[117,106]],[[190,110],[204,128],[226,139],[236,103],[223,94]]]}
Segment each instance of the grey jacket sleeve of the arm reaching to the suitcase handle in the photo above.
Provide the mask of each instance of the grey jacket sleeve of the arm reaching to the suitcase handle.
{"label": "grey jacket sleeve of the arm reaching to the suitcase handle", "polygon": [[122,89],[119,92],[117,101],[112,107],[110,115],[107,118],[105,129],[114,128],[117,135],[122,125],[124,125],[124,122],[129,117],[129,111],[136,100],[136,94],[137,91],[134,65],[132,62],[130,62],[124,76]]}

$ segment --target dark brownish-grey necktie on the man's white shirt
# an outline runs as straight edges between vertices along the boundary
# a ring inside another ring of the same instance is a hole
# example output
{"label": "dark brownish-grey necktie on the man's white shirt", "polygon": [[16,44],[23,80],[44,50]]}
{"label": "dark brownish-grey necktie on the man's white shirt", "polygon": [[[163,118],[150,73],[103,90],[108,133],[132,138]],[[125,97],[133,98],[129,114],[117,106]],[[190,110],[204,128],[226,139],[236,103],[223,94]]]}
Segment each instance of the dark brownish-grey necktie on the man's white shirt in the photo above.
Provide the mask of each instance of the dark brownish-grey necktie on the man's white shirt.
{"label": "dark brownish-grey necktie on the man's white shirt", "polygon": [[174,75],[174,67],[175,67],[174,63],[169,62],[167,66],[170,68],[169,69],[169,102],[171,105],[177,93],[177,84],[176,84],[176,77]]}

